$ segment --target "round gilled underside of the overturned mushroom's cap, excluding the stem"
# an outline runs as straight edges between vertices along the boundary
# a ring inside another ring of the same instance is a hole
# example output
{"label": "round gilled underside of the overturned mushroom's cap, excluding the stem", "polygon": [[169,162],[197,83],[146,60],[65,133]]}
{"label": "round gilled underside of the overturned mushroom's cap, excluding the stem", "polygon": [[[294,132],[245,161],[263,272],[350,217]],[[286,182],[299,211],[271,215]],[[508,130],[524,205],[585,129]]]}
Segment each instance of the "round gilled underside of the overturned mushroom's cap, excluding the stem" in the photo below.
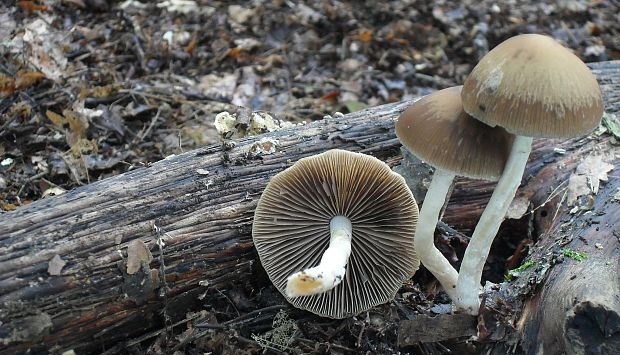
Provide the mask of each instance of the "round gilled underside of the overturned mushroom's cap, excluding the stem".
{"label": "round gilled underside of the overturned mushroom's cap, excluding the stem", "polygon": [[[330,241],[329,223],[352,224],[344,280],[322,294],[288,298],[286,279],[319,264]],[[274,176],[252,227],[269,278],[294,306],[345,318],[385,303],[419,267],[413,249],[418,206],[404,179],[380,160],[330,150],[303,158]]]}

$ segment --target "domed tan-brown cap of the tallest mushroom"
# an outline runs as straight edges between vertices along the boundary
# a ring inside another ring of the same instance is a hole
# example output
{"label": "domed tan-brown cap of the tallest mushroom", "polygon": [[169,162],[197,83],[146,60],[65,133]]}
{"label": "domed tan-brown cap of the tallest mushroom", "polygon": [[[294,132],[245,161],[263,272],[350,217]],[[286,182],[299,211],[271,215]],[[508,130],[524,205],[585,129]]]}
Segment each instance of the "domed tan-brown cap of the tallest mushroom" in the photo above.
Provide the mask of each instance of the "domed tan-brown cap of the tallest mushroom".
{"label": "domed tan-brown cap of the tallest mushroom", "polygon": [[463,107],[476,119],[528,137],[569,138],[598,126],[601,90],[590,69],[550,37],[512,37],[465,80]]}

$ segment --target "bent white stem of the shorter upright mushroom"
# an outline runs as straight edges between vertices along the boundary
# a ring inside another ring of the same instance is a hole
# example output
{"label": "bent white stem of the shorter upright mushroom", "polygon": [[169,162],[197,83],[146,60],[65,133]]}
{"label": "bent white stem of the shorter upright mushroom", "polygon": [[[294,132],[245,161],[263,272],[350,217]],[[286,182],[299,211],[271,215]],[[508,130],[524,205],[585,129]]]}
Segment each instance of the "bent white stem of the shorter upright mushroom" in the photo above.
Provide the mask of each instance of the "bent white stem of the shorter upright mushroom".
{"label": "bent white stem of the shorter upright mushroom", "polygon": [[413,245],[420,261],[441,283],[446,293],[455,300],[455,288],[458,274],[448,259],[435,247],[434,236],[439,213],[446,201],[446,195],[452,186],[454,174],[437,169],[428,187],[424,203],[418,216]]}

